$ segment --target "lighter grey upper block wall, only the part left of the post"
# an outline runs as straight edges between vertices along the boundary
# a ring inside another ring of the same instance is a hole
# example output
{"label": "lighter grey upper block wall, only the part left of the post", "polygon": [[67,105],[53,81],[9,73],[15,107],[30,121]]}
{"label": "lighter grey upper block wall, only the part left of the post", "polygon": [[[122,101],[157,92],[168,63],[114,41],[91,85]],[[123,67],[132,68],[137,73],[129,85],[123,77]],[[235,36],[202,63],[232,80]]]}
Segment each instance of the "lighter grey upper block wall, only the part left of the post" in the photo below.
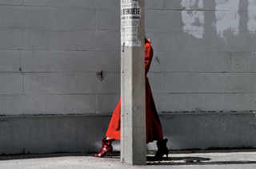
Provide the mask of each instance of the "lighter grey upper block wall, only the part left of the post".
{"label": "lighter grey upper block wall, only the part left of the post", "polygon": [[109,114],[118,100],[117,2],[1,0],[0,114]]}

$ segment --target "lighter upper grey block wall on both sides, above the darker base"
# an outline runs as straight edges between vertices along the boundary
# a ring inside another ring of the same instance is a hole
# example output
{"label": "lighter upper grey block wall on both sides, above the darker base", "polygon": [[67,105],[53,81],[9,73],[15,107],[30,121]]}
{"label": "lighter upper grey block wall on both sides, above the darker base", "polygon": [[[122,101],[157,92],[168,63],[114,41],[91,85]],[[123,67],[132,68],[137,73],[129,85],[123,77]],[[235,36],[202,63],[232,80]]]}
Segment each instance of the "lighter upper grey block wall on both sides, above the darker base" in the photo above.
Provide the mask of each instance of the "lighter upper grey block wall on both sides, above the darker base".
{"label": "lighter upper grey block wall on both sides, above the darker base", "polygon": [[[2,115],[112,111],[119,1],[17,0],[0,8]],[[255,9],[250,0],[146,1],[159,112],[256,109]]]}

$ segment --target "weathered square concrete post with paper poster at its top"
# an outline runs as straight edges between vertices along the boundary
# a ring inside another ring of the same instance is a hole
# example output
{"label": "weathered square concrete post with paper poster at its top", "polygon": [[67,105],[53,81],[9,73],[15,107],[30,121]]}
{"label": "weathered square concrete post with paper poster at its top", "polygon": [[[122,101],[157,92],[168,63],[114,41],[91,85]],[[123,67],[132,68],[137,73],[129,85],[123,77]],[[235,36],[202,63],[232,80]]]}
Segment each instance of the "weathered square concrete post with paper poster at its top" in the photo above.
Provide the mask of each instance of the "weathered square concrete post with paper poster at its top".
{"label": "weathered square concrete post with paper poster at its top", "polygon": [[121,0],[121,160],[146,164],[144,0]]}

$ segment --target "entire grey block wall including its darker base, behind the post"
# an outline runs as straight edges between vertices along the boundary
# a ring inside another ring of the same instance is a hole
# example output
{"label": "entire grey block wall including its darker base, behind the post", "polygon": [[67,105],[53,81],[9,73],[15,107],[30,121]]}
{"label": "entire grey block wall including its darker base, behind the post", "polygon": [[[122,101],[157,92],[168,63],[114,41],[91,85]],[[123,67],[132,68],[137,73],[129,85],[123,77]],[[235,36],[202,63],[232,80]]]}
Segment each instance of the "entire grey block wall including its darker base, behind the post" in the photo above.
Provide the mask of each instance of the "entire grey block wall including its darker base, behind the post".
{"label": "entire grey block wall including its darker base, behind the post", "polygon": [[[0,0],[0,153],[98,150],[120,92],[119,6]],[[256,147],[255,10],[146,0],[148,77],[170,148]]]}

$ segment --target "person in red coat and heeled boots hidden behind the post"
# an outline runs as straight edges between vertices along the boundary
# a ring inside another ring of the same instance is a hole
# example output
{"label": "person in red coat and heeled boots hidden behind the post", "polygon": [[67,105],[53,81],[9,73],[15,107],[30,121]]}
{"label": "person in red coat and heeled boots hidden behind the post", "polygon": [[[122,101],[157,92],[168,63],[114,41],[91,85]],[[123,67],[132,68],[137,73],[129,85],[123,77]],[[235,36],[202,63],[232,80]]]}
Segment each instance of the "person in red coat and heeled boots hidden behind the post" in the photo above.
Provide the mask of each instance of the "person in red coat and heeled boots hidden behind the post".
{"label": "person in red coat and heeled boots hidden behind the post", "polygon": [[[145,77],[149,72],[150,64],[153,58],[153,48],[151,41],[145,37]],[[146,143],[157,140],[158,151],[155,155],[156,159],[162,159],[163,155],[168,156],[168,148],[166,147],[167,139],[163,139],[162,125],[158,117],[158,112],[154,104],[154,97],[150,88],[150,82],[146,77]],[[121,140],[121,99],[112,114],[106,137],[102,140],[102,148],[99,153],[94,154],[95,157],[103,157],[106,154],[112,155],[114,140]]]}

